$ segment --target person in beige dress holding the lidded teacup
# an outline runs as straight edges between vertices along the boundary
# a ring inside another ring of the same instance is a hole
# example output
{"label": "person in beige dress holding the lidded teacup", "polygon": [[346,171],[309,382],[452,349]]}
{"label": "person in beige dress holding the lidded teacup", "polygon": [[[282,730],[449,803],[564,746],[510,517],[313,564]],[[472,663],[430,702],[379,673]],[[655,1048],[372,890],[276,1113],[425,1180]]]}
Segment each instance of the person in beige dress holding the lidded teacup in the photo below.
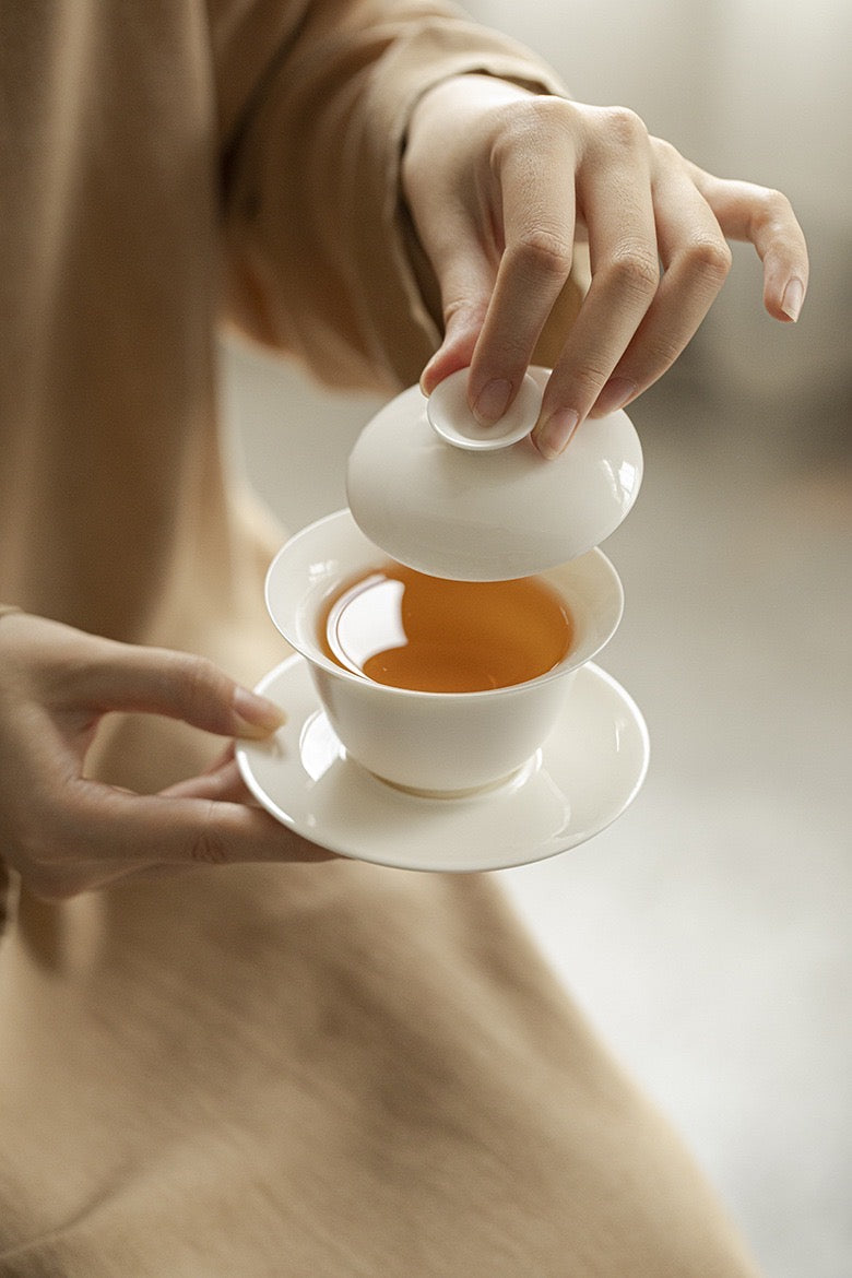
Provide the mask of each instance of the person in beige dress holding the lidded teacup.
{"label": "person in beige dress holding the lidded teacup", "polygon": [[483,422],[544,359],[548,459],[729,239],[797,317],[788,202],[439,0],[32,0],[0,83],[0,1275],[754,1274],[488,875],[249,800],[282,534],[216,335],[353,389],[469,367]]}

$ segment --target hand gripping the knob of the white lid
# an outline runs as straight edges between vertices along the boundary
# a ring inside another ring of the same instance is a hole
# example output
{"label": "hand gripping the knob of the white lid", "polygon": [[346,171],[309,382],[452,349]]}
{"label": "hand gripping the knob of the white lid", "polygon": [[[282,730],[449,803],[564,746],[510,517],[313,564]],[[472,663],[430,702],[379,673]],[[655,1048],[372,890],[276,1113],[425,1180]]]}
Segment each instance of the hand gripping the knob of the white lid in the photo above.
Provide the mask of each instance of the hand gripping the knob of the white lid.
{"label": "hand gripping the knob of the white lid", "polygon": [[470,366],[469,401],[484,424],[515,397],[575,238],[588,238],[591,284],[533,432],[548,458],[586,415],[623,406],[671,367],[728,273],[728,239],[760,254],[777,320],[797,318],[807,288],[805,238],[784,196],[713,178],[622,107],[456,77],[418,104],[402,184],[445,318],[423,390]]}

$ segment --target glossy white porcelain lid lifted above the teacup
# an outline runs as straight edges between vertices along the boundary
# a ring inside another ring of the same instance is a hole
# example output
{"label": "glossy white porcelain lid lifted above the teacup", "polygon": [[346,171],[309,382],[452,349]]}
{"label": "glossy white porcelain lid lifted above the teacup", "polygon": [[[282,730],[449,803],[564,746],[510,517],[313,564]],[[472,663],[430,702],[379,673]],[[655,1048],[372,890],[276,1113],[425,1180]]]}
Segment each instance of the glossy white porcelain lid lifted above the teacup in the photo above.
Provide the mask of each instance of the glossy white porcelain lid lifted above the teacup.
{"label": "glossy white porcelain lid lifted above the teacup", "polygon": [[487,431],[464,426],[466,369],[432,396],[436,422],[445,433],[447,422],[461,422],[470,436],[465,447],[436,432],[432,401],[419,387],[387,404],[356,440],[347,466],[349,505],[367,537],[410,567],[460,580],[526,576],[599,546],[639,493],[639,436],[621,410],[590,418],[559,458],[545,461],[528,431],[547,376],[533,369],[531,404],[524,389],[525,437],[493,450],[475,438]]}

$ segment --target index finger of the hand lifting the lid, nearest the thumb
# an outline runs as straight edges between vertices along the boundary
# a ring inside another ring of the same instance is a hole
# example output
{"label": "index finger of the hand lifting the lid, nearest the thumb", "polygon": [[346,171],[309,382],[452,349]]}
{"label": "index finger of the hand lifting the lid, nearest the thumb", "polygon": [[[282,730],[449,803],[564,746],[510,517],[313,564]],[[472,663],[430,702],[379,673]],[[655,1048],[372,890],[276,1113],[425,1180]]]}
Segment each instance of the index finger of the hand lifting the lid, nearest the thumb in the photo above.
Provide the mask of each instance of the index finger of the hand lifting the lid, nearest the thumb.
{"label": "index finger of the hand lifting the lid, nearest the thumb", "polygon": [[505,248],[471,360],[469,400],[497,422],[515,399],[574,261],[575,153],[565,104],[530,104],[498,169]]}

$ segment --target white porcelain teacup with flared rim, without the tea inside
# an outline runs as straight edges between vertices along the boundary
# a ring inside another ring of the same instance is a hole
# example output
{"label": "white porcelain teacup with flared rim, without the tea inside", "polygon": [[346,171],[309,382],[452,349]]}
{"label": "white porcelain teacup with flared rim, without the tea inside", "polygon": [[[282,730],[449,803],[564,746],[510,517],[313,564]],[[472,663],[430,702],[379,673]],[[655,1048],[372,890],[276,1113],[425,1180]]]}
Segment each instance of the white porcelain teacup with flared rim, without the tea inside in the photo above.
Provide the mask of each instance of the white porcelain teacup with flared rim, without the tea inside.
{"label": "white porcelain teacup with flared rim, without the tea inside", "polygon": [[347,510],[328,515],[278,551],[266,584],[270,616],[308,659],[335,734],[370,772],[418,791],[460,792],[502,781],[547,737],[576,670],[614,634],[623,607],[618,574],[599,550],[542,574],[575,624],[571,649],[552,671],[488,691],[424,693],[372,682],[337,666],[319,645],[322,602],[345,579],[386,562]]}

